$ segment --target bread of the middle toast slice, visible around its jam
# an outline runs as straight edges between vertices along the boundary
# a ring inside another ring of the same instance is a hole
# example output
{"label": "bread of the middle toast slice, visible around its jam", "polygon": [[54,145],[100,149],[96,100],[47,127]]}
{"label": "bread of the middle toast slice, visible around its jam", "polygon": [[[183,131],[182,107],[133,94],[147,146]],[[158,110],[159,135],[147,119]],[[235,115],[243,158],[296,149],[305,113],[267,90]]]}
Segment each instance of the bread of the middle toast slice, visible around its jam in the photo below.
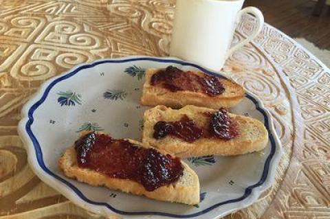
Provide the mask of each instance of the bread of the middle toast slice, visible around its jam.
{"label": "bread of the middle toast slice, visible around its jam", "polygon": [[153,127],[159,121],[179,121],[183,115],[187,115],[199,127],[206,127],[208,117],[205,113],[216,112],[210,108],[197,106],[185,106],[179,110],[166,106],[156,106],[144,113],[144,130],[142,142],[160,150],[166,150],[177,157],[199,157],[210,154],[237,155],[263,150],[268,142],[268,132],[256,119],[228,113],[231,119],[236,122],[239,135],[230,140],[216,138],[199,138],[188,143],[178,137],[167,135],[162,139],[153,137]]}

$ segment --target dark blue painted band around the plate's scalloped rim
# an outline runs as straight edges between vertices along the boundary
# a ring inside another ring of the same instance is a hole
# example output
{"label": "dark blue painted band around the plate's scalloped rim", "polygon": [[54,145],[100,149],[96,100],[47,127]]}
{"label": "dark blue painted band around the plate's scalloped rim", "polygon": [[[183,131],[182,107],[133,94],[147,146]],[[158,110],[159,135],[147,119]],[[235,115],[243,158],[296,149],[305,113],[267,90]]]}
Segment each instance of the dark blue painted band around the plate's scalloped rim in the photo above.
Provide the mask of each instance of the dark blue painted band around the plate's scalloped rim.
{"label": "dark blue painted band around the plate's scalloped rim", "polygon": [[140,60],[175,63],[175,64],[179,64],[179,65],[195,67],[195,68],[197,68],[197,69],[199,69],[203,72],[206,72],[206,73],[208,73],[212,76],[225,78],[225,76],[221,76],[221,75],[219,75],[217,73],[214,73],[212,71],[208,71],[207,69],[204,69],[203,67],[199,67],[198,65],[195,65],[195,64],[192,64],[192,63],[189,63],[189,62],[184,62],[182,60],[161,59],[161,58],[151,58],[151,57],[127,58],[127,59],[118,59],[118,60],[100,60],[100,61],[93,62],[91,64],[82,65],[82,66],[74,69],[73,71],[71,71],[69,73],[66,73],[64,76],[56,78],[56,80],[54,80],[50,84],[48,84],[48,86],[45,88],[45,91],[43,91],[43,95],[41,96],[41,98],[37,102],[32,104],[32,106],[30,108],[28,108],[28,122],[26,122],[26,124],[25,124],[25,131],[28,133],[28,135],[30,137],[30,140],[33,143],[34,150],[36,152],[36,159],[37,159],[40,167],[43,169],[43,171],[45,173],[49,174],[50,176],[53,176],[54,178],[56,178],[58,181],[61,181],[62,183],[65,183],[65,185],[70,187],[76,193],[76,195],[78,195],[81,199],[85,200],[85,202],[87,202],[89,204],[105,206],[105,207],[107,207],[108,209],[110,209],[111,211],[113,211],[117,214],[135,215],[135,216],[136,215],[157,215],[157,216],[168,216],[168,217],[173,217],[173,218],[192,218],[192,217],[196,217],[196,216],[201,216],[202,214],[206,214],[209,211],[211,211],[212,209],[215,209],[215,208],[217,208],[221,205],[226,205],[226,204],[229,204],[229,203],[236,203],[236,202],[239,202],[241,200],[244,200],[245,198],[248,198],[248,196],[250,196],[250,194],[252,194],[252,190],[254,188],[263,185],[263,183],[265,183],[265,180],[267,179],[267,176],[269,174],[270,163],[271,163],[271,161],[274,157],[274,154],[276,152],[276,142],[275,142],[274,136],[272,135],[272,132],[270,131],[270,122],[268,120],[267,113],[265,112],[265,110],[263,108],[260,107],[260,104],[256,100],[256,98],[252,97],[252,95],[249,95],[249,94],[246,94],[245,96],[248,97],[248,99],[252,100],[252,102],[254,102],[254,104],[256,105],[256,110],[263,114],[263,117],[265,119],[265,127],[267,128],[267,131],[269,133],[268,136],[269,136],[269,139],[270,139],[271,150],[270,150],[270,154],[268,155],[267,159],[265,160],[265,165],[263,167],[263,174],[261,175],[261,178],[257,183],[255,183],[254,185],[250,185],[250,186],[245,188],[245,192],[244,192],[243,196],[238,197],[238,198],[234,198],[234,199],[230,199],[230,200],[225,200],[221,203],[216,203],[216,204],[212,205],[211,207],[208,207],[206,209],[198,211],[194,214],[177,215],[177,214],[169,214],[169,213],[158,212],[158,211],[135,211],[135,212],[121,211],[119,209],[115,209],[114,207],[112,207],[108,203],[98,203],[98,202],[95,202],[93,200],[89,200],[89,198],[84,196],[84,194],[82,192],[80,192],[80,190],[76,186],[74,186],[72,183],[69,183],[69,181],[67,181],[65,178],[62,178],[61,176],[58,176],[58,175],[54,174],[54,172],[50,171],[46,167],[46,165],[43,161],[43,152],[42,152],[41,147],[39,145],[39,141],[34,136],[34,133],[31,130],[31,126],[34,122],[34,117],[33,117],[34,111],[36,111],[36,109],[39,106],[41,106],[41,104],[43,104],[43,102],[47,98],[48,93],[50,93],[50,90],[52,89],[52,87],[54,87],[54,85],[57,84],[58,82],[61,82],[62,80],[66,80],[67,78],[70,78],[70,77],[76,75],[76,73],[78,73],[82,69],[89,69],[91,67],[94,67],[96,65],[100,65],[100,64],[103,64],[103,63],[122,63],[122,62],[132,62],[132,61],[140,61]]}

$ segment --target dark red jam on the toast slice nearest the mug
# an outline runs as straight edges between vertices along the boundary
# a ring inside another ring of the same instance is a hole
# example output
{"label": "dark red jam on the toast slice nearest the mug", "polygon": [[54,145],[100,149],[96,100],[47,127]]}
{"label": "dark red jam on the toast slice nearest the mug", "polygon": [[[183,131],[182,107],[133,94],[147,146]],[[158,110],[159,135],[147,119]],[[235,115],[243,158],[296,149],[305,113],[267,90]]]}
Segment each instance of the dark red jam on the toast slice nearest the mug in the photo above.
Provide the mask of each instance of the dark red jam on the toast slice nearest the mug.
{"label": "dark red jam on the toast slice nearest the mug", "polygon": [[157,71],[151,77],[151,85],[159,85],[172,92],[192,91],[206,93],[211,97],[225,91],[221,80],[215,76],[199,76],[192,71],[181,71],[168,66],[166,69]]}

